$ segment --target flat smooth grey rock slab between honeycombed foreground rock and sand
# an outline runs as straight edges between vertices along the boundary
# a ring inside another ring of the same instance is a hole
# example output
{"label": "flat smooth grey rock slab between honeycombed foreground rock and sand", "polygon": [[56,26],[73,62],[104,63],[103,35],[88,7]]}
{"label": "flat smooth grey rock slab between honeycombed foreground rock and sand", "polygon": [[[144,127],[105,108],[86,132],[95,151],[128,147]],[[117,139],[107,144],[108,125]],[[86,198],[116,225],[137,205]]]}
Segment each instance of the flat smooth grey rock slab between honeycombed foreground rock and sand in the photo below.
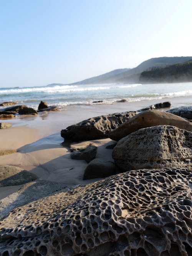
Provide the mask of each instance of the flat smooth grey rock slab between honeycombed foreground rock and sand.
{"label": "flat smooth grey rock slab between honeycombed foreground rock and sand", "polygon": [[26,183],[17,192],[0,200],[0,218],[14,208],[28,204],[64,188],[65,186],[62,183],[46,180],[36,180]]}

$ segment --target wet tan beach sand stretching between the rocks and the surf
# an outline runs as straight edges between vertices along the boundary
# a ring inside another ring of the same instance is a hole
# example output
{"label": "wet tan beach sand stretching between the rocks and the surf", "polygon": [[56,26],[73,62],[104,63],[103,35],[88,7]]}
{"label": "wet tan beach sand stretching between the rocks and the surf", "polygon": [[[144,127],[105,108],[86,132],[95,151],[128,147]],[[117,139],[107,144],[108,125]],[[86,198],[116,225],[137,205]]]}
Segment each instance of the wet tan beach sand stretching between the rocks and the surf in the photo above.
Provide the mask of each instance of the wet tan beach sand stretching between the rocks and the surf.
{"label": "wet tan beach sand stretching between the rocks and the surf", "polygon": [[[18,150],[0,156],[0,165],[14,165],[35,173],[40,179],[65,183],[67,187],[92,183],[99,179],[83,180],[84,160],[70,158],[69,144],[61,145],[60,131],[67,126],[94,116],[109,113],[136,111],[146,106],[171,101],[172,107],[192,105],[191,97],[163,100],[115,103],[113,105],[74,105],[59,112],[40,112],[38,116],[20,116],[6,120],[12,128],[0,130],[0,150]],[[2,120],[3,121],[3,120]],[[4,120],[5,121],[5,120]],[[96,158],[112,160],[109,138],[90,141],[98,147]],[[73,143],[77,144],[77,143]],[[81,142],[81,146],[89,142]],[[22,185],[0,188],[0,199],[17,191]]]}

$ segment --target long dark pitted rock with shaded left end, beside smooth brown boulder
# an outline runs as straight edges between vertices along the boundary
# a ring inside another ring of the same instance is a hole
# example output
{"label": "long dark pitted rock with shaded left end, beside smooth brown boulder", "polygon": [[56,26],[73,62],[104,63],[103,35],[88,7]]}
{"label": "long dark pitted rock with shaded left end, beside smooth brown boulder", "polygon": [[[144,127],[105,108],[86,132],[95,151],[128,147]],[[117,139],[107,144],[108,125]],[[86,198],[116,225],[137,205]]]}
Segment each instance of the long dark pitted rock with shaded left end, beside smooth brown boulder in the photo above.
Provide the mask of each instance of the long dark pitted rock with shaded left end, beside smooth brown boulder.
{"label": "long dark pitted rock with shaded left end, beside smooth brown boulder", "polygon": [[61,137],[73,141],[106,138],[109,131],[114,130],[134,115],[136,112],[130,111],[89,118],[61,130]]}

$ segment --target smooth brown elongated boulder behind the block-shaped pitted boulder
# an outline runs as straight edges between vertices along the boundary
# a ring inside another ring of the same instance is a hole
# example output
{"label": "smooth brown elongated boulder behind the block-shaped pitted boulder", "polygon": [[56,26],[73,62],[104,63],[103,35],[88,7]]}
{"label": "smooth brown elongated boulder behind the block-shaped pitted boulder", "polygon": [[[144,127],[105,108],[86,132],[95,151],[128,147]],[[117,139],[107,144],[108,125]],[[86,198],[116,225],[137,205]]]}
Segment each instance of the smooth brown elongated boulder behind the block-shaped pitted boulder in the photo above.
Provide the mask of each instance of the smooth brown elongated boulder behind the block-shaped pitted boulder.
{"label": "smooth brown elongated boulder behind the block-shaped pitted boulder", "polygon": [[114,131],[111,131],[108,136],[111,140],[118,141],[141,128],[157,125],[173,125],[180,129],[192,131],[192,124],[180,116],[165,111],[146,110],[124,122]]}

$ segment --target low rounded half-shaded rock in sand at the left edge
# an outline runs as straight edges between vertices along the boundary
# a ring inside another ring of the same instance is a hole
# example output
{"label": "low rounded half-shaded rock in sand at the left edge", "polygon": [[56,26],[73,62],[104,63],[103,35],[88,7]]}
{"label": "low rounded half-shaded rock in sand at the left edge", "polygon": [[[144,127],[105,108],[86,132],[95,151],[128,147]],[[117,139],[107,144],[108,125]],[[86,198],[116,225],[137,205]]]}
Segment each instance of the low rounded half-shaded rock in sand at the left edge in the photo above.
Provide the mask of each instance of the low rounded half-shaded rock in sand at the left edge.
{"label": "low rounded half-shaded rock in sand at the left edge", "polygon": [[0,187],[22,185],[38,177],[22,168],[12,165],[0,165]]}

